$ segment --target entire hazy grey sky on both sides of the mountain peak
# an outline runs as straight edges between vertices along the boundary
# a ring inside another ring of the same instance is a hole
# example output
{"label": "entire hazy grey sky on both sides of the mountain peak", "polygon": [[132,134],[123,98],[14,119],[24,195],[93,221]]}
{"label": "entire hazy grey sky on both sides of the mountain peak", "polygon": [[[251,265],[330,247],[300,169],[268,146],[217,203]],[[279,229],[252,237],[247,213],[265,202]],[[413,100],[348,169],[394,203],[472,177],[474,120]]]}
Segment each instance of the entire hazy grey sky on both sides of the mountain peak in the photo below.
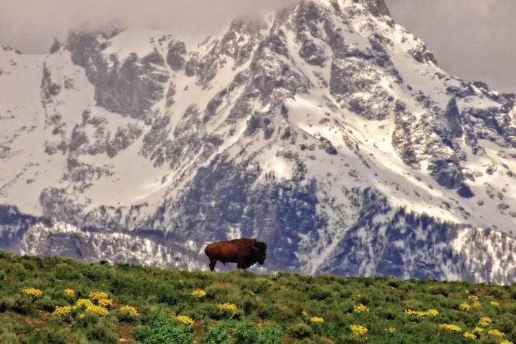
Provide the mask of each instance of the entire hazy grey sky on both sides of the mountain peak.
{"label": "entire hazy grey sky on both sides of the mountain peak", "polygon": [[[294,1],[294,0],[292,0]],[[118,19],[139,28],[217,30],[233,17],[261,14],[290,0],[18,0],[0,3],[0,43],[48,52],[70,28]],[[514,0],[385,0],[392,17],[427,43],[440,67],[491,89],[516,92]]]}

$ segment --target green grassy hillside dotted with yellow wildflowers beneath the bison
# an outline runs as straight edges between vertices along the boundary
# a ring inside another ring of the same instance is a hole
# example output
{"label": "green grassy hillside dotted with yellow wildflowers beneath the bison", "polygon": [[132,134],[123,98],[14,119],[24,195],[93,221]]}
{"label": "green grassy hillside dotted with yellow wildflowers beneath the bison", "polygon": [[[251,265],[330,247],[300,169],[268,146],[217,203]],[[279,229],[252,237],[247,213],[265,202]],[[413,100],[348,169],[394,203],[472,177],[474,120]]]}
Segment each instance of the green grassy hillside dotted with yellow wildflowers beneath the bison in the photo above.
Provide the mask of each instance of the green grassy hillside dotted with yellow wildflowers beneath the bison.
{"label": "green grassy hillside dotted with yellow wildflowers beneath the bison", "polygon": [[0,250],[0,343],[516,343],[516,285],[189,272]]}

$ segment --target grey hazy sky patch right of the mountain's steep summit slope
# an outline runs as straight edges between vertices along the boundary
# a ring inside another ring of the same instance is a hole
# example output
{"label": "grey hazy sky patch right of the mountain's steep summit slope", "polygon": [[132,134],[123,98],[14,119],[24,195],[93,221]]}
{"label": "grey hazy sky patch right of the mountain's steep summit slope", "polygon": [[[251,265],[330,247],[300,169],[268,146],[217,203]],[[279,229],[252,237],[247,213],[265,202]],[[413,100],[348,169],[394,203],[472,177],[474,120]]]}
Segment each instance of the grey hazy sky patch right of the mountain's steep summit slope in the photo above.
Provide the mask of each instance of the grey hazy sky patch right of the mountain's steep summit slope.
{"label": "grey hazy sky patch right of the mountain's steep summit slope", "polygon": [[516,93],[515,0],[385,0],[391,17],[427,43],[442,69]]}

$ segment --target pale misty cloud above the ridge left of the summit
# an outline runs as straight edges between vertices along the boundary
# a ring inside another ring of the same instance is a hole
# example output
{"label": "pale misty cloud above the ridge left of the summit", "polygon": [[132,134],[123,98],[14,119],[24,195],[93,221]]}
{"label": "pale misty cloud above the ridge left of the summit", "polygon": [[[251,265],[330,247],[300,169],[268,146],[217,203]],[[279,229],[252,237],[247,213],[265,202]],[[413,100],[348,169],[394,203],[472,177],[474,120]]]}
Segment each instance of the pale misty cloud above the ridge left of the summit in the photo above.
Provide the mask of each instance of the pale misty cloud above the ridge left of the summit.
{"label": "pale misty cloud above the ridge left of the summit", "polygon": [[0,3],[0,43],[25,54],[48,52],[70,28],[116,19],[132,27],[211,32],[235,17],[259,15],[291,0],[17,0]]}

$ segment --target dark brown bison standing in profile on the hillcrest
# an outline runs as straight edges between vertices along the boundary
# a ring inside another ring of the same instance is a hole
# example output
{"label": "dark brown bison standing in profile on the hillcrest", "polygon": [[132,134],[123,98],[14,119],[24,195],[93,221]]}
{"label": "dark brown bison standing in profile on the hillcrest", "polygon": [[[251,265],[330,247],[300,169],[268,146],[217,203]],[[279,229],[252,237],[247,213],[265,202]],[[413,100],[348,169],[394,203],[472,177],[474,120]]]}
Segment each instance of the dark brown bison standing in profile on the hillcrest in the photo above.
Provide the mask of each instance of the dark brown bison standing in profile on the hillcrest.
{"label": "dark brown bison standing in profile on the hillcrest", "polygon": [[267,244],[256,239],[242,238],[230,241],[217,241],[204,248],[210,259],[210,270],[215,271],[217,260],[222,264],[236,263],[237,268],[244,269],[258,262],[264,264]]}

